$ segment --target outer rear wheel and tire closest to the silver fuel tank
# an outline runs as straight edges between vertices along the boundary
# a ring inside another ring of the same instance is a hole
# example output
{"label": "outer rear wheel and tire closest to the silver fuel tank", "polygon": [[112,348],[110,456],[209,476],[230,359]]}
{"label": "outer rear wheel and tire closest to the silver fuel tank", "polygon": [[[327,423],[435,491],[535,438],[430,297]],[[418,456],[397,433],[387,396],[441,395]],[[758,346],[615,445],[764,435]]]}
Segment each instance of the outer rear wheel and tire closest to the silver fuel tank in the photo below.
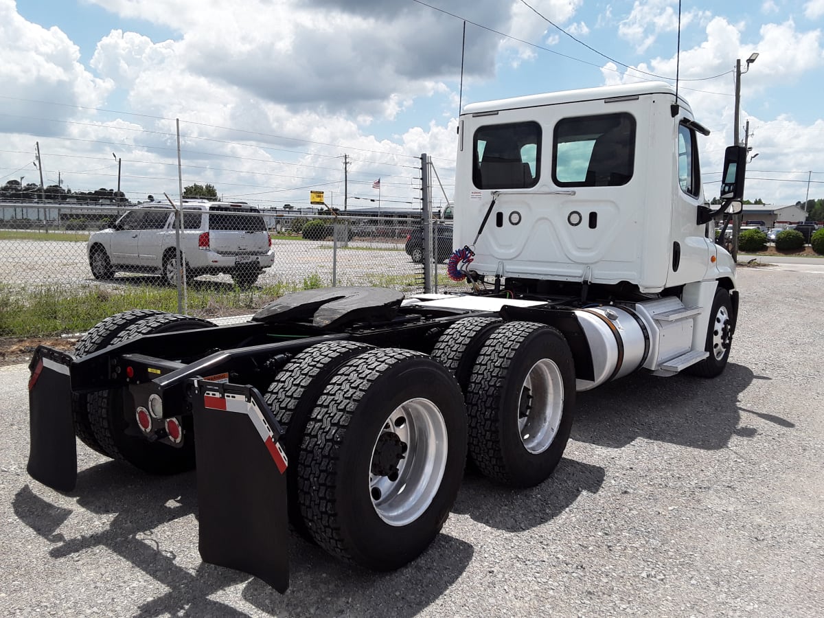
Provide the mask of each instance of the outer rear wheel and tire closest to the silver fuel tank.
{"label": "outer rear wheel and tire closest to the silver fuel tank", "polygon": [[499,326],[480,349],[466,393],[472,461],[506,485],[538,485],[564,454],[574,405],[564,335],[533,322]]}

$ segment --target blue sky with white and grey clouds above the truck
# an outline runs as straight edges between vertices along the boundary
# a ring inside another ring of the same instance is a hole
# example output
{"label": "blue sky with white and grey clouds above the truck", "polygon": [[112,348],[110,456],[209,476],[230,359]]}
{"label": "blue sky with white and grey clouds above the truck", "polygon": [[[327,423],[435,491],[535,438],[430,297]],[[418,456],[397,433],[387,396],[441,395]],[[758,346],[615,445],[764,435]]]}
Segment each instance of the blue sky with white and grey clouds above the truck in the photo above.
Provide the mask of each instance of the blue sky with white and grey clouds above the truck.
{"label": "blue sky with white and grey clouds above the truck", "polygon": [[419,208],[426,153],[438,206],[463,105],[678,72],[711,199],[740,59],[747,199],[824,198],[824,0],[682,2],[680,24],[677,0],[0,0],[0,184],[40,182],[38,144],[45,185],[135,201]]}

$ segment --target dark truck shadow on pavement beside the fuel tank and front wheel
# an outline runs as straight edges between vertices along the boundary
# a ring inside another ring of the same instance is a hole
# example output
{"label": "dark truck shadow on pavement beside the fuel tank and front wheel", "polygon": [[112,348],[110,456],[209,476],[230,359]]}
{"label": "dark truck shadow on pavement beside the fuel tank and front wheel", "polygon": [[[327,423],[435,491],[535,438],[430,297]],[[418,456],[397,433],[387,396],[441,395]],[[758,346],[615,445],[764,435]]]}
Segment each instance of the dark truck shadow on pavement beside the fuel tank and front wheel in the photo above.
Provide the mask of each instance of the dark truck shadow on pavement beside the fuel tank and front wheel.
{"label": "dark truck shadow on pavement beside the fuel tank and front wheel", "polygon": [[755,436],[755,428],[742,425],[750,414],[794,428],[779,416],[738,405],[739,396],[753,380],[769,379],[733,363],[714,380],[638,373],[595,391],[578,393],[572,438],[610,448],[647,438],[714,450],[727,447],[733,435]]}

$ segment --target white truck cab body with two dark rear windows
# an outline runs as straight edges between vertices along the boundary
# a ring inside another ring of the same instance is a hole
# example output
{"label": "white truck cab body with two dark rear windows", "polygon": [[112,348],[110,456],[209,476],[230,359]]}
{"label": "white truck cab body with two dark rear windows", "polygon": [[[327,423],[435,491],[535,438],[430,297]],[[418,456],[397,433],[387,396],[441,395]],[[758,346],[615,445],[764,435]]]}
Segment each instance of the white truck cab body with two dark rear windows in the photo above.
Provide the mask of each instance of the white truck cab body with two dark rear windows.
{"label": "white truck cab body with two dark rear windows", "polygon": [[669,85],[467,105],[459,133],[455,236],[478,274],[641,293],[732,277],[696,217],[709,131]]}

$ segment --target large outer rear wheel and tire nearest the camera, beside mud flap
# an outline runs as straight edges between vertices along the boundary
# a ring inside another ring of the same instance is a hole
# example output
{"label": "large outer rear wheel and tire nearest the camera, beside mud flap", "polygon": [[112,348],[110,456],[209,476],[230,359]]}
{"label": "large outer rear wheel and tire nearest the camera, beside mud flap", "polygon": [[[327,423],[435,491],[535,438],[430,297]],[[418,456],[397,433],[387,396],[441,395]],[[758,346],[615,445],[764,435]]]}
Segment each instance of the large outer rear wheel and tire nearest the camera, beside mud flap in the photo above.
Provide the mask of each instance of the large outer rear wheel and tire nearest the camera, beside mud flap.
{"label": "large outer rear wheel and tire nearest the camera, beside mud flap", "polygon": [[307,425],[304,521],[331,554],[398,569],[438,535],[465,460],[466,413],[449,372],[408,350],[362,353],[331,377]]}

